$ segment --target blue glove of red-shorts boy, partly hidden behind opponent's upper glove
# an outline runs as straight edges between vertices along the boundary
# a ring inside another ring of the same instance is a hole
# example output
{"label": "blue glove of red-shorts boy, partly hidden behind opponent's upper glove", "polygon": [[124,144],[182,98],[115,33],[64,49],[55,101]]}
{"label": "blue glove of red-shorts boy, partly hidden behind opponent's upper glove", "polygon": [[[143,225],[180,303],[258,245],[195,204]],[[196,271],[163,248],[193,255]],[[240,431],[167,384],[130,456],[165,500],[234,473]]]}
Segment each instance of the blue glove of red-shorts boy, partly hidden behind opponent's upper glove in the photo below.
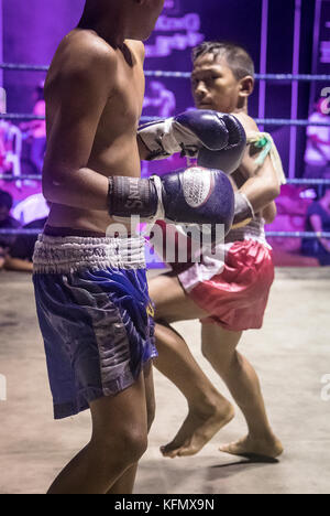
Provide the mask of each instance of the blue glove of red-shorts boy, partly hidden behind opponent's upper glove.
{"label": "blue glove of red-shorts boy, partly hidden behind opponent's upper glove", "polygon": [[237,117],[233,115],[221,115],[226,120],[229,131],[229,141],[226,148],[220,151],[210,152],[206,147],[201,147],[198,153],[198,165],[208,169],[222,170],[227,174],[232,174],[240,166],[245,149],[246,133]]}

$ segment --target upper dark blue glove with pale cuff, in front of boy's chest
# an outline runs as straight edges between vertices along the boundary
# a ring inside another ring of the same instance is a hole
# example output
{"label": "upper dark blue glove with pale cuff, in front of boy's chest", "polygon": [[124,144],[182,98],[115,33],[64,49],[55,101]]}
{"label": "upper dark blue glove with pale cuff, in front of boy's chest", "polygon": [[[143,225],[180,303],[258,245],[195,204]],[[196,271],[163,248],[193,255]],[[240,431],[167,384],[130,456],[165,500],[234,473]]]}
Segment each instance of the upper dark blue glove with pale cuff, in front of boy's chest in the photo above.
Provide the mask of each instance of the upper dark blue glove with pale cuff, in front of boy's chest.
{"label": "upper dark blue glove with pale cuff, in front of boy's chest", "polygon": [[241,122],[231,115],[193,109],[175,118],[142,126],[139,138],[148,149],[147,160],[162,160],[182,152],[197,158],[201,149],[221,151],[241,146],[246,136]]}

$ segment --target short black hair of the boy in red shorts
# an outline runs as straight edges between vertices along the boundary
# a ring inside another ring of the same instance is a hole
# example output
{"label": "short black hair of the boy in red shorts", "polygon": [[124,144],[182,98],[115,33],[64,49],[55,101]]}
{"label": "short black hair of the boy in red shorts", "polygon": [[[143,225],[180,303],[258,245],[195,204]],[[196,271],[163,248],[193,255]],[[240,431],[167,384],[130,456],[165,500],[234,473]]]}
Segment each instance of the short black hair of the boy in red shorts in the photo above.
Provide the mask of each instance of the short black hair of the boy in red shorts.
{"label": "short black hair of the boy in red shorts", "polygon": [[206,54],[213,54],[215,58],[224,57],[238,80],[251,75],[254,77],[254,63],[249,52],[241,45],[229,41],[205,41],[193,50],[193,62]]}

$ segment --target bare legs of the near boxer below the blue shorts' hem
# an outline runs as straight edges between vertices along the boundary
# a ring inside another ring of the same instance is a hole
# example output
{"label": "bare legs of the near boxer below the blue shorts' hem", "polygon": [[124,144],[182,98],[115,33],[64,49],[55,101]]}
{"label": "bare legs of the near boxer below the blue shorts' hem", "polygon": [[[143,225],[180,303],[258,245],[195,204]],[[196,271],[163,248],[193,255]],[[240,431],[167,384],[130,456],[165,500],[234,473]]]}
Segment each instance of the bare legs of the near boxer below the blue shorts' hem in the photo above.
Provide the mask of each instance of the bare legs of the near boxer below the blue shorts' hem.
{"label": "bare legs of the near boxer below the blue shorts' hem", "polygon": [[143,374],[117,396],[90,402],[90,410],[91,440],[58,475],[50,494],[106,494],[120,479],[116,492],[131,493],[147,443]]}

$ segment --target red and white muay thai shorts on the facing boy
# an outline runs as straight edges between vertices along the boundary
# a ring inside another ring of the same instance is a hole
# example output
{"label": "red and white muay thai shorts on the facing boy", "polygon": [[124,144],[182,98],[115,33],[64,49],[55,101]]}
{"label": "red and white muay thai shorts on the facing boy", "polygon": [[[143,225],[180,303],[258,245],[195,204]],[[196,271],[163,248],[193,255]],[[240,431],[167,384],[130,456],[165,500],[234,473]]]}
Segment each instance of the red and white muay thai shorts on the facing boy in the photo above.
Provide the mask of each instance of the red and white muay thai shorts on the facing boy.
{"label": "red and white muay thai shorts on the facing boy", "polygon": [[178,271],[178,279],[209,314],[201,323],[233,332],[261,329],[275,276],[264,221],[232,230],[221,246],[217,256],[204,255],[200,262]]}

